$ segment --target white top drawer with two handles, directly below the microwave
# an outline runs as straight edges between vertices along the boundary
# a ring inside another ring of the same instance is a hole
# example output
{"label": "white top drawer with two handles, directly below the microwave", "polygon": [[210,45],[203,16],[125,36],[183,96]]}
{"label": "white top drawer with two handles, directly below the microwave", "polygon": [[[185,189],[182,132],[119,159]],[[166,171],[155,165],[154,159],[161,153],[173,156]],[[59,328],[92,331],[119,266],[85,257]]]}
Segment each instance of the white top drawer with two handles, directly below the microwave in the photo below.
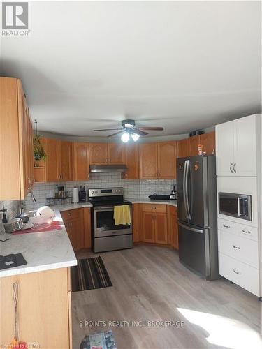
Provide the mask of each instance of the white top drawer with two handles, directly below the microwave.
{"label": "white top drawer with two handles, directly below the microwave", "polygon": [[224,232],[231,232],[240,237],[246,237],[247,239],[258,241],[258,230],[248,225],[226,221],[225,219],[217,219],[217,228]]}

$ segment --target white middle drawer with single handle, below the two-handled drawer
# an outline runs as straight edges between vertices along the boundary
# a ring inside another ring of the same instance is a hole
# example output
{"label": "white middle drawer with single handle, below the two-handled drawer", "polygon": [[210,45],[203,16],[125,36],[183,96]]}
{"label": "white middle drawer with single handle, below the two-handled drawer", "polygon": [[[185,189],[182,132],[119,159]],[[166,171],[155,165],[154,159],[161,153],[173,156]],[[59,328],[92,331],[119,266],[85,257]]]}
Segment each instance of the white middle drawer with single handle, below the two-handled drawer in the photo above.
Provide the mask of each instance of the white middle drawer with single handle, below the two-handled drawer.
{"label": "white middle drawer with single handle, below the two-handled drawer", "polygon": [[259,267],[259,246],[258,243],[230,232],[218,231],[219,252],[247,263],[252,267]]}

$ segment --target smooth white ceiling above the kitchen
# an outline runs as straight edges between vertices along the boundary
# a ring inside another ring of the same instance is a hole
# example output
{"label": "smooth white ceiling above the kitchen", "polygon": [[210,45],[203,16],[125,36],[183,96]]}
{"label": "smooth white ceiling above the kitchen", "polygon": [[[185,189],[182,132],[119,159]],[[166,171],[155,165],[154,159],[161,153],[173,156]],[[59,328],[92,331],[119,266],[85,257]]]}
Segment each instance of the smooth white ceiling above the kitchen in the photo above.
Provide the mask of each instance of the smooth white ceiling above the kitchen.
{"label": "smooth white ceiling above the kitchen", "polygon": [[31,2],[1,38],[43,131],[103,136],[124,117],[175,135],[261,112],[260,1]]}

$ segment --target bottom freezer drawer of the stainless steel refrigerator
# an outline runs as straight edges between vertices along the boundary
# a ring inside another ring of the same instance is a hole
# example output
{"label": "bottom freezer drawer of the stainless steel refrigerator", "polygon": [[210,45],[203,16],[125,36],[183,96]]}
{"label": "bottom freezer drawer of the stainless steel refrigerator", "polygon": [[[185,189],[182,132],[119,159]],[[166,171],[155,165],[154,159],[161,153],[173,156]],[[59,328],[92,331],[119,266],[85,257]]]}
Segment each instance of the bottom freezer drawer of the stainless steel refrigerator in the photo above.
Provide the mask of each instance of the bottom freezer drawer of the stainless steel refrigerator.
{"label": "bottom freezer drawer of the stainless steel refrigerator", "polygon": [[209,230],[178,222],[179,258],[185,265],[209,279]]}

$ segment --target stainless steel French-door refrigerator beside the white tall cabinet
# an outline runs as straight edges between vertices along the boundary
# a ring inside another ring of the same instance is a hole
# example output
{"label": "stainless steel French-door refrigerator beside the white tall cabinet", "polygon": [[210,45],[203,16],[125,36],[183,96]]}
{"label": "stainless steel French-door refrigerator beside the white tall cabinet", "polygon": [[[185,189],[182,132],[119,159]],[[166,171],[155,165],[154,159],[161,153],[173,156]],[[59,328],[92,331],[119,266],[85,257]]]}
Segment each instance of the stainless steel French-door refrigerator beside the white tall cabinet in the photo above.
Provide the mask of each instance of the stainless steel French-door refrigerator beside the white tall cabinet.
{"label": "stainless steel French-door refrigerator beside the white tall cabinet", "polygon": [[219,278],[214,156],[177,158],[179,258],[207,280]]}

